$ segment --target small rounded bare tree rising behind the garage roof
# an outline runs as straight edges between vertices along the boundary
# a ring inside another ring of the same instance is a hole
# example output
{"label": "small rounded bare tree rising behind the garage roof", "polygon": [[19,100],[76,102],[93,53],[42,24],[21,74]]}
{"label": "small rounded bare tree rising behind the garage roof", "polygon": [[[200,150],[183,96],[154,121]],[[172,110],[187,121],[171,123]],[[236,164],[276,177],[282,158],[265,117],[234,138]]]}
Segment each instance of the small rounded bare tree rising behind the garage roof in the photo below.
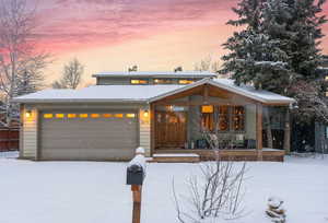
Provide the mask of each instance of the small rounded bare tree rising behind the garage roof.
{"label": "small rounded bare tree rising behind the garage roof", "polygon": [[52,83],[54,89],[77,89],[82,82],[84,66],[77,59],[72,59],[63,67],[62,77]]}

